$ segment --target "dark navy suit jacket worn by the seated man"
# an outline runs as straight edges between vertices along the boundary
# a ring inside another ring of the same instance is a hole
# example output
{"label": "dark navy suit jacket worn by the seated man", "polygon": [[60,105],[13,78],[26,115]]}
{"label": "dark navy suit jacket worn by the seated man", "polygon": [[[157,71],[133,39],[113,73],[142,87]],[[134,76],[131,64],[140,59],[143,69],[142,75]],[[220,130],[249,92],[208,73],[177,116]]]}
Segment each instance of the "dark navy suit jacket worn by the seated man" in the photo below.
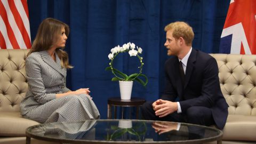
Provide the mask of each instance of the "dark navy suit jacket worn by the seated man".
{"label": "dark navy suit jacket worn by the seated man", "polygon": [[192,106],[210,108],[215,124],[226,124],[228,105],[220,90],[217,61],[211,55],[192,49],[187,62],[185,84],[182,85],[179,59],[172,56],[165,63],[166,87],[162,99],[178,97],[182,113]]}

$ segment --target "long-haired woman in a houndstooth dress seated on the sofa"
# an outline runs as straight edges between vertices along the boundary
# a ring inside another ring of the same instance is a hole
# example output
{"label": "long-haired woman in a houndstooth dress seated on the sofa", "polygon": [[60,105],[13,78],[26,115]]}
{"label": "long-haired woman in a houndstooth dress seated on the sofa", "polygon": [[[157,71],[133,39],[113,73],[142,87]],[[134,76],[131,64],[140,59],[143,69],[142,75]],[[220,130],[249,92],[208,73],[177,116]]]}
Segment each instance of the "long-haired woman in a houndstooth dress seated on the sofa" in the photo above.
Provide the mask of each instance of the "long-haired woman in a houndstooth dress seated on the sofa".
{"label": "long-haired woman in a houndstooth dress seated on the sofa", "polygon": [[89,89],[66,87],[68,54],[65,47],[69,27],[47,18],[39,26],[26,59],[28,92],[21,102],[21,115],[39,123],[98,119],[99,111]]}

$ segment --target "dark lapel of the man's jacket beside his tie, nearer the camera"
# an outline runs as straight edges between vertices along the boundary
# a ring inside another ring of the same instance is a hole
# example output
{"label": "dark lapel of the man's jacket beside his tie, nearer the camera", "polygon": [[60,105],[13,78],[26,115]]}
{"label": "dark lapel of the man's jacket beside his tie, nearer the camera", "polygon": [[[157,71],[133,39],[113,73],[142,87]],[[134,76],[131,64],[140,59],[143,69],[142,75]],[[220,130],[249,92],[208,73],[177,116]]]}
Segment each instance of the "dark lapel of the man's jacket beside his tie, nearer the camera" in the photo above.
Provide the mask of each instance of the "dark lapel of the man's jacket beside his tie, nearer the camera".
{"label": "dark lapel of the man's jacket beside his tie, nearer the camera", "polygon": [[186,86],[188,85],[189,79],[191,74],[193,73],[194,70],[194,63],[196,62],[196,50],[192,49],[189,58],[188,58],[188,62],[187,62],[187,68],[186,68],[186,75],[185,75],[185,86],[184,89],[186,88]]}

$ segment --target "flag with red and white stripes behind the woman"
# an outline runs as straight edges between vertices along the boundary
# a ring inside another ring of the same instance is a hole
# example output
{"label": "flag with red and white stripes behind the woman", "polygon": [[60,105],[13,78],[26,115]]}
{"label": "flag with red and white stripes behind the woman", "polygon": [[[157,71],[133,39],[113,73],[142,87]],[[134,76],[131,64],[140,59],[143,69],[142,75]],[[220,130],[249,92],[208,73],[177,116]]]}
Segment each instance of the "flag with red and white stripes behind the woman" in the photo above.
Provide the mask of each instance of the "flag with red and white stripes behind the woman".
{"label": "flag with red and white stripes behind the woman", "polygon": [[30,49],[26,0],[0,0],[0,49]]}

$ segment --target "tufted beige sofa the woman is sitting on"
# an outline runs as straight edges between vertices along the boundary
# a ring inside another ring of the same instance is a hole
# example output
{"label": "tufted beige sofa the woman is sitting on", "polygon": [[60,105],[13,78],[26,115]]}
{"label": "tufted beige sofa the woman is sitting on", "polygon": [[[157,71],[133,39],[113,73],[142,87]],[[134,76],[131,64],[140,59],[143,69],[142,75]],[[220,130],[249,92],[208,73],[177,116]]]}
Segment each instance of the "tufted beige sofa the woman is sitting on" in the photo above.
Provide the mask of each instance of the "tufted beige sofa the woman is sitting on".
{"label": "tufted beige sofa the woman is sitting on", "polygon": [[20,102],[28,89],[25,72],[27,52],[0,50],[0,143],[25,143],[27,127],[39,124],[20,115]]}

